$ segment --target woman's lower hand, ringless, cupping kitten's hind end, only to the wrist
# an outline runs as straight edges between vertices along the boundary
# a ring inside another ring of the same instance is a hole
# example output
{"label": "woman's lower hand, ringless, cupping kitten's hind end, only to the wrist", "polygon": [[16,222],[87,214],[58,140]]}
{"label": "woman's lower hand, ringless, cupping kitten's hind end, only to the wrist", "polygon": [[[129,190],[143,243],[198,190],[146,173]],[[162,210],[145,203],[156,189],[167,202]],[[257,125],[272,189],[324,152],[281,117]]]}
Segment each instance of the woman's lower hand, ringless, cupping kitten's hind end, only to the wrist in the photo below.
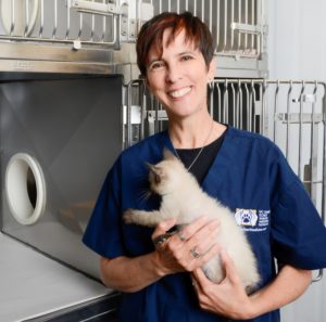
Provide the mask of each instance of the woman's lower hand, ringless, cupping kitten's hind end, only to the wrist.
{"label": "woman's lower hand, ringless, cupping kitten's hind end, only to the wrist", "polygon": [[192,272],[200,307],[210,312],[231,319],[246,320],[253,318],[250,297],[247,295],[235,265],[225,250],[220,253],[226,273],[225,279],[215,284],[208,280],[201,269]]}

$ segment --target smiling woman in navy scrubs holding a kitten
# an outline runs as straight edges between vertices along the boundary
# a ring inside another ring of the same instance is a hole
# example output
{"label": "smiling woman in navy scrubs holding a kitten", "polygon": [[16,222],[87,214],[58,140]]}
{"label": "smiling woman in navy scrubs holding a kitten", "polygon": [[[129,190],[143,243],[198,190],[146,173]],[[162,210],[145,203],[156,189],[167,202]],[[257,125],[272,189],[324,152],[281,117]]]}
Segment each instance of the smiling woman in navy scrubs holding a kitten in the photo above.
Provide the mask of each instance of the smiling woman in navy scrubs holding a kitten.
{"label": "smiling woman in navy scrubs holding a kitten", "polygon": [[[138,66],[167,113],[168,131],[121,154],[84,236],[101,255],[103,283],[123,292],[121,321],[277,322],[278,308],[309,286],[310,270],[326,266],[325,227],[279,150],[263,137],[210,116],[213,53],[208,27],[190,13],[163,13],[140,30]],[[255,224],[243,221],[262,276],[254,294],[243,291],[227,253],[218,245],[210,248],[218,222],[208,221],[204,214],[156,247],[152,241],[174,227],[173,219],[154,231],[123,222],[127,208],[159,208],[158,198],[140,195],[148,189],[145,162],[161,160],[164,147],[235,214],[254,211]],[[190,252],[193,247],[197,254]],[[211,283],[200,269],[216,254],[226,272],[221,284]]]}

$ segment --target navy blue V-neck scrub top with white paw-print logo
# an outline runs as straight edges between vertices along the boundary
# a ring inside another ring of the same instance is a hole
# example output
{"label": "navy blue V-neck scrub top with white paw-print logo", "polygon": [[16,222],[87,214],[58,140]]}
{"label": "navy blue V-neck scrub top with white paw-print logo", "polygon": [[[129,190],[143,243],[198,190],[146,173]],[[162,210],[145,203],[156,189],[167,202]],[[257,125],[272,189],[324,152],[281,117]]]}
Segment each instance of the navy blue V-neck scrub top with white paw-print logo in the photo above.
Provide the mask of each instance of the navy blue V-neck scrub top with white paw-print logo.
{"label": "navy blue V-neck scrub top with white paw-print logo", "polygon": [[[125,224],[127,208],[158,209],[160,198],[145,198],[149,190],[145,162],[162,159],[173,151],[166,131],[125,150],[108,173],[84,243],[108,258],[136,257],[154,250],[153,229]],[[275,278],[274,258],[302,269],[326,267],[326,229],[304,186],[280,150],[268,139],[229,127],[202,182],[202,189],[235,214],[258,258],[260,286]],[[188,273],[167,275],[150,286],[123,294],[123,322],[218,322],[218,315],[199,308]],[[273,311],[252,322],[278,322]]]}

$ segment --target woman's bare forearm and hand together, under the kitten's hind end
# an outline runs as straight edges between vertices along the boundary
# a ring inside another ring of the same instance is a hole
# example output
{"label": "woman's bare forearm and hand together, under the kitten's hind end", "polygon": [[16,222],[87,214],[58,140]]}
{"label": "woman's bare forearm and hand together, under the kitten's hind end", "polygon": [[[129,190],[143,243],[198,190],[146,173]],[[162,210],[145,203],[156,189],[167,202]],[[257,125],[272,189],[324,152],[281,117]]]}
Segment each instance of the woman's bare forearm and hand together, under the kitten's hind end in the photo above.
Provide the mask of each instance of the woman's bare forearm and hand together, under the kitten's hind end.
{"label": "woman's bare forearm and hand together, under the kitten's hind end", "polygon": [[279,309],[303,294],[311,282],[311,271],[286,265],[269,284],[248,296],[229,256],[223,249],[220,255],[226,273],[220,284],[208,280],[201,269],[192,273],[192,281],[203,310],[231,319],[253,319]]}

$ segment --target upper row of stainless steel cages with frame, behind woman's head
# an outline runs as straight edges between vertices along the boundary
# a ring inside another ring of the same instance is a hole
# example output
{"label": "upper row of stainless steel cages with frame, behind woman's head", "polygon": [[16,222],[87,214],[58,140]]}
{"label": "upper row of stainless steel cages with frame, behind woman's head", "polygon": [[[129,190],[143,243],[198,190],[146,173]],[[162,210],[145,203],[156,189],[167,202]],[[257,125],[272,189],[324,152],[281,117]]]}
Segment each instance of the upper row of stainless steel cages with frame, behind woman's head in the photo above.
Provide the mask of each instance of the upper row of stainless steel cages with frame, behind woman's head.
{"label": "upper row of stainless steel cages with frame, behind woman's head", "polygon": [[[267,26],[264,2],[265,0],[1,1],[0,70],[123,70],[124,74],[130,74],[130,68],[122,66],[136,66],[135,41],[143,22],[163,11],[191,11],[208,24],[213,34],[215,52],[220,55],[218,77],[266,77]],[[57,66],[46,62],[57,62]],[[64,62],[70,62],[70,65]],[[79,64],[73,66],[72,63]],[[88,63],[87,66],[85,63]]]}

